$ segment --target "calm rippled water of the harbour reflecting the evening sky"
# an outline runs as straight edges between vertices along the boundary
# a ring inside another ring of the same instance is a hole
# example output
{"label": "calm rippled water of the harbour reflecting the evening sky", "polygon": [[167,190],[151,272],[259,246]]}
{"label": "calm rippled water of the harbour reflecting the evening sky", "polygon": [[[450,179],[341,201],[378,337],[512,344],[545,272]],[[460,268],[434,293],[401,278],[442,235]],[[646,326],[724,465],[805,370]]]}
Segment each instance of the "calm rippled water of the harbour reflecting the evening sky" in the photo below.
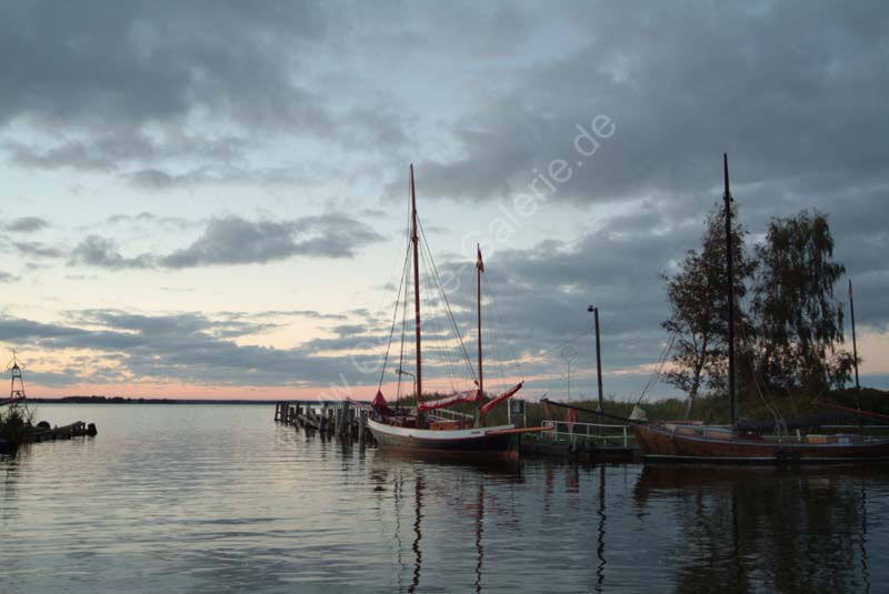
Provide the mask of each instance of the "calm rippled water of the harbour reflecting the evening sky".
{"label": "calm rippled water of the harbour reflecting the evening sky", "polygon": [[430,463],[271,406],[40,405],[0,592],[885,592],[889,467]]}

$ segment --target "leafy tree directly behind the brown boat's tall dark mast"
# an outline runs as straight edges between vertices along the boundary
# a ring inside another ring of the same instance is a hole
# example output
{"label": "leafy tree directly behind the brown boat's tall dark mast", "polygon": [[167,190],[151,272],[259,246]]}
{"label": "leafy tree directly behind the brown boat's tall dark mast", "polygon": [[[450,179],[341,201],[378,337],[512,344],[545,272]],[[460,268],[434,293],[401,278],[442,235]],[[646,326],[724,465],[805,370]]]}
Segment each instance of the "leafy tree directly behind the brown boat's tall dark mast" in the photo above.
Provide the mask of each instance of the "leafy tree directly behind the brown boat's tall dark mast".
{"label": "leafy tree directly behind the brown boat's tall dark mast", "polygon": [[[676,336],[672,370],[667,381],[688,393],[686,417],[691,416],[702,389],[725,386],[728,352],[728,272],[726,270],[725,209],[707,220],[700,251],[689,250],[672,275],[661,275],[670,304],[670,318],[661,325]],[[753,265],[745,254],[746,231],[732,208],[736,328],[749,328],[738,303],[747,293],[746,281]]]}

